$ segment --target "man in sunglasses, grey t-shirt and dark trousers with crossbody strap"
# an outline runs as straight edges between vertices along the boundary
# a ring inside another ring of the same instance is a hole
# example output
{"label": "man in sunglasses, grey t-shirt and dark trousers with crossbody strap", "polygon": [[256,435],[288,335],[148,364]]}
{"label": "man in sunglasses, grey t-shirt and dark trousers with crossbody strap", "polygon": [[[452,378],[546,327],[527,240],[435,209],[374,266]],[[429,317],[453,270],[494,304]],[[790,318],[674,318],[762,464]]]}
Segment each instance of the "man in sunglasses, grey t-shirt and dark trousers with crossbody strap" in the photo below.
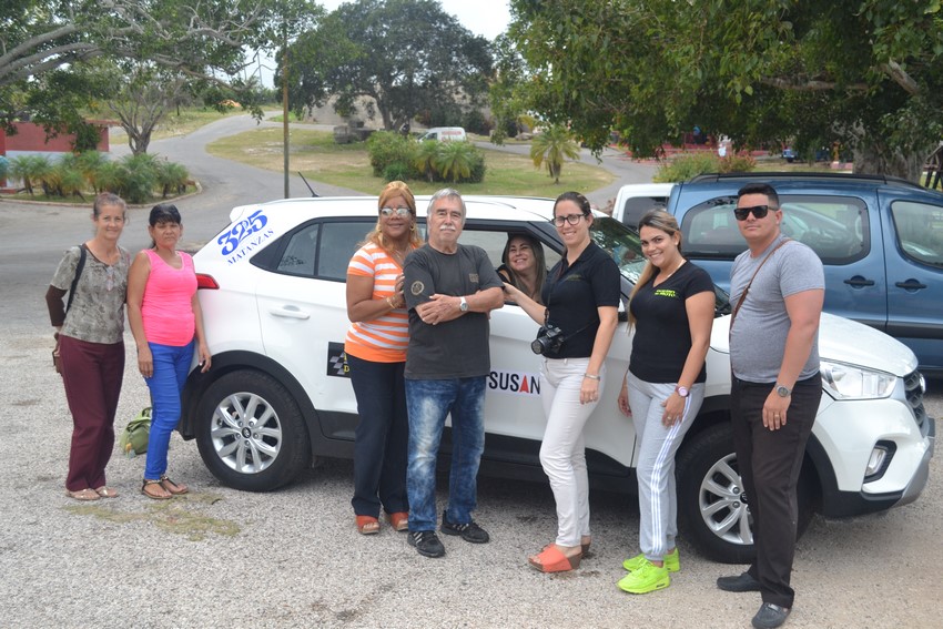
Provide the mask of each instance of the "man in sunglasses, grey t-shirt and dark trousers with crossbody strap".
{"label": "man in sunglasses, grey t-shirt and dark trousers with crossbody strap", "polygon": [[757,558],[717,586],[761,592],[752,622],[767,629],[785,622],[794,598],[795,487],[822,395],[818,334],[825,280],[815,253],[780,232],[782,209],[772,186],[751,183],[737,196],[733,214],[749,248],[733,262],[730,278],[730,414]]}

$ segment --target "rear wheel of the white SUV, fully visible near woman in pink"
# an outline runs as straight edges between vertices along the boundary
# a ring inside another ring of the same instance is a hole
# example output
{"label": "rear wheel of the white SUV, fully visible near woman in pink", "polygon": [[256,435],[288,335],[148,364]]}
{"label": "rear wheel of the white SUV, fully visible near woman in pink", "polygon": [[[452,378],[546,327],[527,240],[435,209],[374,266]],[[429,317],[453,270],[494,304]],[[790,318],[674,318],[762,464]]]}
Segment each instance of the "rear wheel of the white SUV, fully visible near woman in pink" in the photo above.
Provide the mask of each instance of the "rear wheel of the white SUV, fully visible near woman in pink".
{"label": "rear wheel of the white SUV, fully visible near woman in pink", "polygon": [[235,489],[271,491],[311,461],[298,405],[260,372],[232,372],[210,385],[197,406],[195,433],[203,463]]}

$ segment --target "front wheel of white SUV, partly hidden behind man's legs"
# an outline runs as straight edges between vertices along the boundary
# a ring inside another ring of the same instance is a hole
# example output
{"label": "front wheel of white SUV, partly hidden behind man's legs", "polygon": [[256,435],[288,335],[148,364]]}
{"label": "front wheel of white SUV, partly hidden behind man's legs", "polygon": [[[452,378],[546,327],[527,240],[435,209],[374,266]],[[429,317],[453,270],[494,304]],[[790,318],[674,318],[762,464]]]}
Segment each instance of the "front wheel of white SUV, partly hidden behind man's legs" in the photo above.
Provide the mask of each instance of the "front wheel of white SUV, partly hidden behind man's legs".
{"label": "front wheel of white SUV, partly hidden behind man's legs", "polygon": [[[756,557],[752,518],[742,484],[729,423],[690,435],[677,458],[680,529],[699,552],[722,564],[749,564]],[[797,538],[814,515],[810,475],[803,469],[797,489]]]}

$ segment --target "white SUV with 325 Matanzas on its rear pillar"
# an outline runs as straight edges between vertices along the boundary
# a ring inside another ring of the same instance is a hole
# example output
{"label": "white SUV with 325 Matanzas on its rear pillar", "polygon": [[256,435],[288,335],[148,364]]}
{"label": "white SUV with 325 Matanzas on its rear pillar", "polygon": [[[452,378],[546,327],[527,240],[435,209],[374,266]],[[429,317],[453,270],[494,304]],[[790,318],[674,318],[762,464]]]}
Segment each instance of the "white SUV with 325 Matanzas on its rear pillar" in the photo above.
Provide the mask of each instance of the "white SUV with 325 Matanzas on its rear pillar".
{"label": "white SUV with 325 Matanzas on its rear pillar", "polygon": [[[552,201],[465,199],[462,241],[497,266],[508,233],[544,243],[548,265],[562,250]],[[419,199],[425,225],[427,199]],[[196,438],[225,485],[265,491],[290,483],[317,456],[352,457],[356,400],[343,342],[347,262],[376,221],[375,197],[296,199],[233,210],[232,223],[194,257],[213,353],[193,371],[180,432]],[[643,265],[637,234],[598,216],[594,239],[622,272],[622,293]],[[729,302],[718,291],[707,397],[678,455],[682,534],[704,555],[746,561],[752,552],[729,425]],[[616,406],[629,356],[625,317],[609,352],[602,399],[586,427],[594,487],[633,491],[637,443]],[[537,325],[514,305],[491,313],[491,374],[483,474],[543,480],[544,434]],[[849,516],[914,500],[926,484],[935,437],[923,378],[905,346],[854,322],[823,315],[822,396],[801,477],[800,529],[812,514]],[[444,440],[448,452],[448,439]]]}

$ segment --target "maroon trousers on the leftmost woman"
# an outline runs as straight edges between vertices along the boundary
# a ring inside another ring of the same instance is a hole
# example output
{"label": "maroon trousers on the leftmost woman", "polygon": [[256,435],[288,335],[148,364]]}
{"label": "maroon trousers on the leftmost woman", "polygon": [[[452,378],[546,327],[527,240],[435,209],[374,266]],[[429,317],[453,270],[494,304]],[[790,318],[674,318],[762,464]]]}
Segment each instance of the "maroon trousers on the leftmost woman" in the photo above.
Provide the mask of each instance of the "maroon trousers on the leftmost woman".
{"label": "maroon trousers on the leftmost woman", "polygon": [[72,412],[70,491],[105,485],[104,467],[114,447],[114,414],[124,378],[124,342],[88,343],[60,335],[62,382]]}

